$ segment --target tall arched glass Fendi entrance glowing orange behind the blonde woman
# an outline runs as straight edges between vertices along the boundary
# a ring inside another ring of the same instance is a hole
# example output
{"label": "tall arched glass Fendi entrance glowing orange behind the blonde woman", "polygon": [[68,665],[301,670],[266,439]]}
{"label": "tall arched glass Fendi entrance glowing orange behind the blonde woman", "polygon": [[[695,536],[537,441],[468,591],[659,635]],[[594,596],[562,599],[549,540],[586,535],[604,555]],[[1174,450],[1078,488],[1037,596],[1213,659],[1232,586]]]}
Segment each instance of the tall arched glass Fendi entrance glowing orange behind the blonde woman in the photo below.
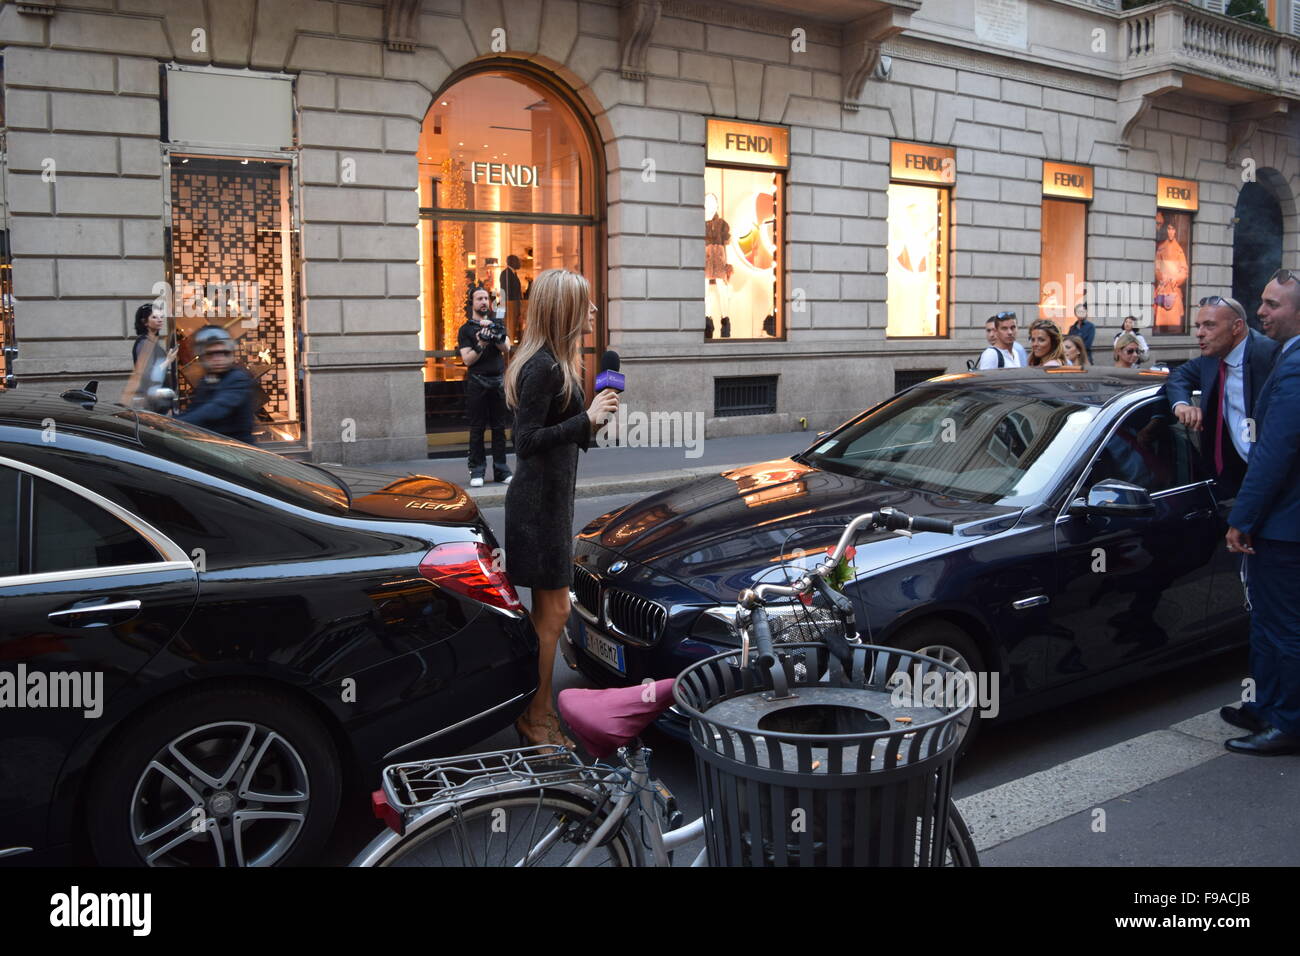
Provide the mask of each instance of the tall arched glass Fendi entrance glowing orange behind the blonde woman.
{"label": "tall arched glass Fendi entrance glowing orange behind the blonde woman", "polygon": [[430,454],[468,441],[456,336],[476,289],[517,343],[545,269],[581,272],[601,310],[584,342],[588,394],[604,347],[604,173],[595,125],[528,64],[477,64],[434,96],[420,131],[420,282]]}

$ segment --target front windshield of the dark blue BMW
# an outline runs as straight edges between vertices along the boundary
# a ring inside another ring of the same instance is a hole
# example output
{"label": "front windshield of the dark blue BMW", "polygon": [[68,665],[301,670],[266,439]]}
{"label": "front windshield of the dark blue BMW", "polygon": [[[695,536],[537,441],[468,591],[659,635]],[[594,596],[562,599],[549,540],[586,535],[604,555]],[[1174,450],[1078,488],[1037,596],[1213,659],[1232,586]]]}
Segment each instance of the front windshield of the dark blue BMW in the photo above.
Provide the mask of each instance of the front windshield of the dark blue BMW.
{"label": "front windshield of the dark blue BMW", "polygon": [[809,464],[953,498],[1026,505],[1097,416],[1005,388],[915,388],[806,455]]}

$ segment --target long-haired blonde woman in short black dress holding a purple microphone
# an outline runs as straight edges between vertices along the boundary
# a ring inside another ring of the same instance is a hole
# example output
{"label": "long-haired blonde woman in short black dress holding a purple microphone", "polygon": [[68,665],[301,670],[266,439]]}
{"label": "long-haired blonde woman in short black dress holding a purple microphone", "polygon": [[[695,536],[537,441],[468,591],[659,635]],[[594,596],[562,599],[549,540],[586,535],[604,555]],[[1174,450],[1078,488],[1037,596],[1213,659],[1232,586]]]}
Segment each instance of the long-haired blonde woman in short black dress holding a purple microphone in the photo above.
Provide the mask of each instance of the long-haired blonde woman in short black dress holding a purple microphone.
{"label": "long-haired blonde woman in short black dress holding a purple microphone", "polygon": [[537,693],[515,728],[532,744],[572,747],[551,701],[555,645],[568,620],[573,583],[573,485],[577,450],[619,407],[606,389],[582,411],[582,333],[595,316],[576,272],[547,269],[532,285],[524,341],[506,369],[515,410],[515,479],[506,492],[506,574],[532,588],[538,639]]}

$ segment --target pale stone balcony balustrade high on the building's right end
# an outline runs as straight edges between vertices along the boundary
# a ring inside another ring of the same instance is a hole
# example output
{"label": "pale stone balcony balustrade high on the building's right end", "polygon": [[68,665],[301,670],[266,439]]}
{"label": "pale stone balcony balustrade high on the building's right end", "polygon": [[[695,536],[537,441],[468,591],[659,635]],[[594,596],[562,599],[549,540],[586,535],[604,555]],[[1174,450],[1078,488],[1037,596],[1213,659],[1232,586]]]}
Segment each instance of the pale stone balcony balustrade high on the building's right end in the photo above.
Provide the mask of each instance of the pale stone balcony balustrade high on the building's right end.
{"label": "pale stone balcony balustrade high on the building's right end", "polygon": [[1300,95],[1300,38],[1169,0],[1121,14],[1124,78],[1182,69]]}

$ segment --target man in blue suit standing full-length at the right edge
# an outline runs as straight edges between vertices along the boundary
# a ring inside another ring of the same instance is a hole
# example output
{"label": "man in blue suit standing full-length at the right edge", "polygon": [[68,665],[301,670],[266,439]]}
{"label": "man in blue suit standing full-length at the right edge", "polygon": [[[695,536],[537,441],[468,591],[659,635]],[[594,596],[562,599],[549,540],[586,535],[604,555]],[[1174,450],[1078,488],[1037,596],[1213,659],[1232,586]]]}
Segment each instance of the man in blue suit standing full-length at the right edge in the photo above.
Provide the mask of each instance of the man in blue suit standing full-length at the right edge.
{"label": "man in blue suit standing full-length at the right edge", "polygon": [[1300,273],[1264,287],[1260,324],[1282,343],[1256,403],[1257,441],[1228,515],[1227,549],[1245,554],[1254,700],[1219,711],[1251,731],[1234,753],[1300,753]]}

